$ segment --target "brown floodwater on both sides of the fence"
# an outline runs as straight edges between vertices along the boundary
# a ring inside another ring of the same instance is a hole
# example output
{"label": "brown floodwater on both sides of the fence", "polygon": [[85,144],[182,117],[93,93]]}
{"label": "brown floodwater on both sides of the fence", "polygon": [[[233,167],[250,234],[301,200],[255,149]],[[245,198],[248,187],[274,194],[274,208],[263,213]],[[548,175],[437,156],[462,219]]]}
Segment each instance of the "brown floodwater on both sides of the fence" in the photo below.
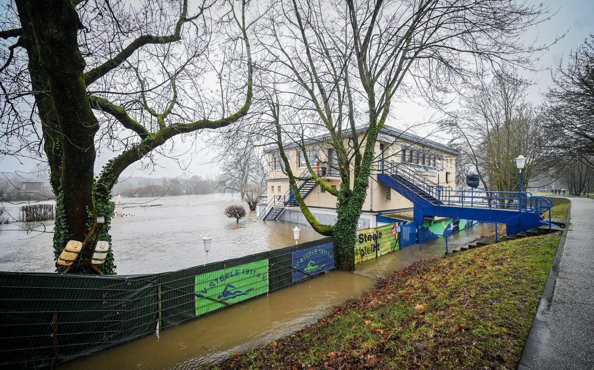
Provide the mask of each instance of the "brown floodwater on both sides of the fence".
{"label": "brown floodwater on both sides of the fence", "polygon": [[[147,199],[148,200],[148,199]],[[146,200],[124,199],[125,206]],[[201,237],[213,236],[209,262],[263,252],[294,244],[288,222],[263,222],[251,212],[240,221],[222,215],[238,198],[222,195],[167,197],[151,208],[124,208],[125,217],[113,220],[113,247],[119,274],[164,272],[204,264]],[[149,204],[150,204],[149,203]],[[46,225],[48,228],[51,224]],[[307,225],[299,225],[299,242],[319,239]],[[494,230],[478,224],[450,236],[450,248],[466,244]],[[2,271],[53,271],[52,234],[33,238],[15,225],[0,225]],[[443,237],[356,265],[355,273],[330,271],[267,296],[234,305],[59,366],[60,369],[195,369],[259,344],[293,333],[332,312],[346,300],[372,289],[376,281],[416,261],[443,256]],[[35,256],[33,258],[33,256]]]}

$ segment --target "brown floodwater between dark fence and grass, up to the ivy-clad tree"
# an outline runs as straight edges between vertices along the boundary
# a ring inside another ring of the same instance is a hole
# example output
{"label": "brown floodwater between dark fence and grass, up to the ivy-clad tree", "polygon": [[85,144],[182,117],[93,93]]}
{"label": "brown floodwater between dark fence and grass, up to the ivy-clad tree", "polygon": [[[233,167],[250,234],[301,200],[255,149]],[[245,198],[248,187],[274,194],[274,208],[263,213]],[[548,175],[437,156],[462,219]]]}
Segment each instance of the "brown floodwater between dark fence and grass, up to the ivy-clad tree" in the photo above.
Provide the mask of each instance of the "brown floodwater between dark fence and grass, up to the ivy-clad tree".
{"label": "brown floodwater between dark fence and grass, up to the ivy-clad tree", "polygon": [[59,368],[194,369],[311,325],[374,283],[363,275],[331,271]]}

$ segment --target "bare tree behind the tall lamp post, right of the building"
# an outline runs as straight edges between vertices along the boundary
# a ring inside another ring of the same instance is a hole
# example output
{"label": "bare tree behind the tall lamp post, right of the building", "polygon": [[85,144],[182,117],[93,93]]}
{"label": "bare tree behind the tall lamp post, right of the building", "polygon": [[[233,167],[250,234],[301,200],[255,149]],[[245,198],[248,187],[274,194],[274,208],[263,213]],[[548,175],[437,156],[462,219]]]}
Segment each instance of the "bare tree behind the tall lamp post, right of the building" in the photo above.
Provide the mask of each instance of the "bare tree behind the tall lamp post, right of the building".
{"label": "bare tree behind the tall lamp post, right of the building", "polygon": [[[527,101],[529,81],[497,73],[491,83],[476,87],[463,109],[442,122],[453,144],[463,152],[460,171],[479,175],[486,191],[515,191],[519,173],[514,158],[527,156],[522,190],[535,175],[548,174],[549,140],[535,107]],[[462,179],[460,179],[462,180]]]}

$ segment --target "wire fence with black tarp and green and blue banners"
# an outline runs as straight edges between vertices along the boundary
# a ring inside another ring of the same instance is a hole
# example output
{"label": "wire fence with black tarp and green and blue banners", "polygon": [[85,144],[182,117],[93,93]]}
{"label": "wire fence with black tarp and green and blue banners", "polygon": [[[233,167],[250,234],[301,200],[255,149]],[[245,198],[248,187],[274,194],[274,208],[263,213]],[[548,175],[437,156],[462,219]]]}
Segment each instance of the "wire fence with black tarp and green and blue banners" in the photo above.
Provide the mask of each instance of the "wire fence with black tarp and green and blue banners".
{"label": "wire fence with black tarp and green and blue banners", "polygon": [[333,243],[327,237],[162,274],[0,272],[0,366],[56,365],[290,286],[332,269]]}

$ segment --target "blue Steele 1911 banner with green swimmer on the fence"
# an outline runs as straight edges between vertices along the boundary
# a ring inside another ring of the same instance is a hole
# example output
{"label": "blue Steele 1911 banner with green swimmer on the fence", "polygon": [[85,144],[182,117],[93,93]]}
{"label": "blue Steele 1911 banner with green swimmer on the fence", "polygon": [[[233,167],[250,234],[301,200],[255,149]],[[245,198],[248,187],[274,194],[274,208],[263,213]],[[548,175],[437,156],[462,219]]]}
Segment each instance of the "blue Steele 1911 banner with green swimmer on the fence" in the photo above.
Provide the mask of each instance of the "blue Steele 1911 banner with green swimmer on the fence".
{"label": "blue Steele 1911 banner with green swimmer on the fence", "polygon": [[293,283],[334,268],[332,243],[292,253]]}

